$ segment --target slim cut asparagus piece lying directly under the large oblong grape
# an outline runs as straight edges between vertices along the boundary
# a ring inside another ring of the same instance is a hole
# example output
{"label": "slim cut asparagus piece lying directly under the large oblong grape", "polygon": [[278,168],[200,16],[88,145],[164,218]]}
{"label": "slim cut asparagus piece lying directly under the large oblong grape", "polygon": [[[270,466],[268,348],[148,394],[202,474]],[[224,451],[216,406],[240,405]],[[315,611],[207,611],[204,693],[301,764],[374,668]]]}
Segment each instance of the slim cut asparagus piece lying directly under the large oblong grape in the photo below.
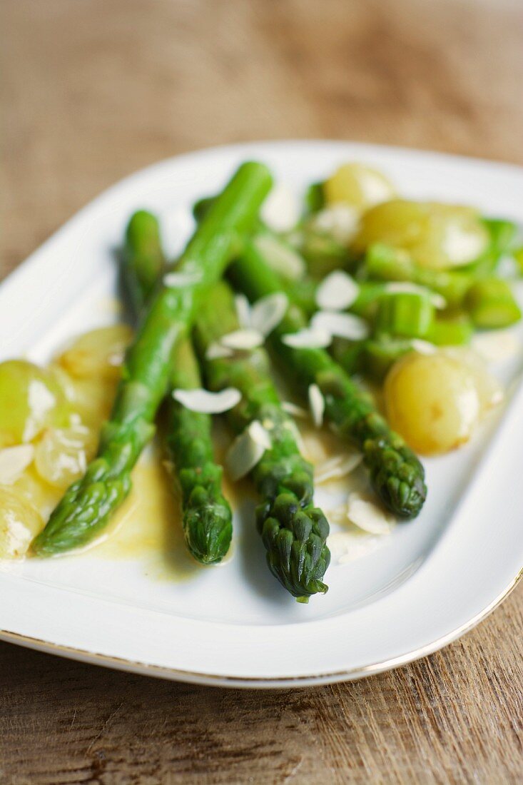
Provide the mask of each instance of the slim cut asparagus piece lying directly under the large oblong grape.
{"label": "slim cut asparagus piece lying directly under the large oblong grape", "polygon": [[375,243],[368,248],[364,273],[379,281],[410,281],[441,294],[449,308],[461,305],[474,278],[466,272],[420,267],[404,250]]}

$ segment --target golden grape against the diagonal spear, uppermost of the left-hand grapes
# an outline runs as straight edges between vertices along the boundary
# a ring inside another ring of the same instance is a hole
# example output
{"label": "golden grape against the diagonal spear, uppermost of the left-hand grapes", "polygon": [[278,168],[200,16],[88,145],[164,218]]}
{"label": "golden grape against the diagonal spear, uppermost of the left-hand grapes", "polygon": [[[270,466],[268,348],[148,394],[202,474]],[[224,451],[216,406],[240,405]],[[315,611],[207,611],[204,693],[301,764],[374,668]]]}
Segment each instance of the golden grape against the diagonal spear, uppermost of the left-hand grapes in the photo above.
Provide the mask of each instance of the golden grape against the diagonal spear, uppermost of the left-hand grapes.
{"label": "golden grape against the diagonal spear, uppermost of the left-hand grapes", "polygon": [[132,330],[126,324],[90,330],[77,338],[57,363],[74,378],[118,379],[131,337]]}

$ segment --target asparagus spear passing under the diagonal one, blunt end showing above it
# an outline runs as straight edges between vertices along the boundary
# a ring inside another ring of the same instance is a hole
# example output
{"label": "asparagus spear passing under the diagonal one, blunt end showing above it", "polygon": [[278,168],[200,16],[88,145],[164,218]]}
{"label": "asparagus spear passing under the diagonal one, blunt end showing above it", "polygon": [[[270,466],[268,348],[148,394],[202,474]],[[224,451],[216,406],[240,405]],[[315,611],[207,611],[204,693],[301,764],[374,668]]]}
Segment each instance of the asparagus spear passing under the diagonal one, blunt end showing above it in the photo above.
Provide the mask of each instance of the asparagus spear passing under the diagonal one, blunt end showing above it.
{"label": "asparagus spear passing under the diagonal one, blunt end showing above it", "polygon": [[[155,242],[149,242],[154,237]],[[147,250],[147,253],[144,253]],[[159,224],[141,210],[130,218],[123,254],[123,278],[133,294],[136,315],[141,312],[163,272]],[[203,564],[215,564],[229,550],[232,512],[221,492],[222,469],[214,462],[209,414],[191,411],[170,395],[174,389],[202,386],[198,362],[190,338],[174,346],[170,385],[164,401],[167,455],[181,489],[182,525],[192,556]]]}

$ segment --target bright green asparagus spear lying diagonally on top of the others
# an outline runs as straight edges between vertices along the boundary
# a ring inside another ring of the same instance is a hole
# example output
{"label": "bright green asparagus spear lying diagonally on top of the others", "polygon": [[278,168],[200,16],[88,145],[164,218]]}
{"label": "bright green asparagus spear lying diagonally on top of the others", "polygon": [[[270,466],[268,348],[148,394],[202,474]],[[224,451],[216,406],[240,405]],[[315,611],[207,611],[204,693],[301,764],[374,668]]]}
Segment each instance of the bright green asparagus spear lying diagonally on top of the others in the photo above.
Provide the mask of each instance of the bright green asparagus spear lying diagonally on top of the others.
{"label": "bright green asparagus spear lying diagonally on top of the others", "polygon": [[126,353],[97,458],[66,491],[35,539],[35,553],[49,556],[85,545],[126,498],[131,469],[152,437],[152,422],[170,382],[174,344],[192,323],[203,292],[220,278],[236,235],[250,230],[271,184],[265,166],[244,163],[196,228],[178,267],[192,283],[162,285],[152,298]]}

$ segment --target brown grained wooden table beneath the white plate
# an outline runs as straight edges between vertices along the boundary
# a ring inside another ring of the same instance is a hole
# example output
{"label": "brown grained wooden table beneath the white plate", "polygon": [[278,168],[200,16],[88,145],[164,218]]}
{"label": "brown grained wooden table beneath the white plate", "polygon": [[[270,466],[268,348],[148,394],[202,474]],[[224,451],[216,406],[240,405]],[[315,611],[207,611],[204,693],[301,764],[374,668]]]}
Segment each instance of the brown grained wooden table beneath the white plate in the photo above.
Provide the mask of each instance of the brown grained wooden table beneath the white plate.
{"label": "brown grained wooden table beneath the white plate", "polygon": [[[519,0],[3,0],[2,273],[123,175],[332,137],[523,162]],[[509,783],[523,589],[353,684],[198,688],[0,644],[0,782]]]}

